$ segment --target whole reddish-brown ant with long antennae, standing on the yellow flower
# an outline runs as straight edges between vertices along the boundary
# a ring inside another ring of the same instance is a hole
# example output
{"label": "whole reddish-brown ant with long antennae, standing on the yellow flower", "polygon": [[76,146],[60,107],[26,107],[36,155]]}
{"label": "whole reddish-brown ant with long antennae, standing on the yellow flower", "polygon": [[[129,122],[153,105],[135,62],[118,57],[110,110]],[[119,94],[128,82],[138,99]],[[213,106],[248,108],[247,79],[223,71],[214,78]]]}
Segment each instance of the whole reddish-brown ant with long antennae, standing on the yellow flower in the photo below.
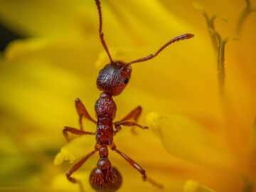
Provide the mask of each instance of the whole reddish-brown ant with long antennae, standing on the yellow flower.
{"label": "whole reddish-brown ant with long antennae, standing on the yellow flower", "polygon": [[[91,151],[90,154],[87,154],[80,161],[78,161],[78,163],[76,163],[74,166],[72,166],[66,173],[66,176],[69,181],[73,183],[79,183],[81,191],[83,191],[82,184],[76,178],[73,178],[72,174],[77,171],[80,166],[82,166],[82,164],[84,164],[85,161],[87,161],[87,159],[92,156],[92,154],[95,154],[96,151],[99,151],[100,160],[97,161],[97,167],[95,169],[92,169],[91,171],[90,185],[96,191],[117,191],[117,189],[122,185],[122,176],[120,172],[114,166],[112,166],[110,160],[107,158],[107,147],[109,146],[110,149],[116,151],[117,154],[121,155],[131,166],[134,167],[134,169],[137,169],[137,171],[142,174],[142,178],[144,181],[149,181],[154,186],[158,186],[159,188],[161,188],[162,186],[160,184],[156,183],[155,181],[151,180],[146,176],[146,171],[142,168],[142,166],[137,164],[137,162],[129,158],[129,156],[127,156],[126,154],[123,154],[121,151],[119,151],[113,142],[113,136],[122,129],[121,126],[136,126],[142,129],[148,129],[148,127],[137,124],[137,119],[142,113],[142,107],[138,106],[137,108],[132,110],[132,112],[127,114],[127,116],[123,119],[119,120],[118,122],[113,122],[117,111],[117,106],[114,103],[112,96],[119,95],[129,82],[132,73],[131,64],[150,60],[156,57],[156,55],[158,55],[161,50],[169,46],[171,43],[183,39],[192,38],[193,35],[187,33],[181,36],[177,36],[176,38],[171,39],[171,41],[167,42],[164,46],[159,48],[156,53],[151,54],[145,58],[133,60],[129,63],[124,63],[122,61],[113,61],[110,55],[110,51],[108,50],[105,43],[102,32],[102,13],[100,7],[100,0],[95,0],[95,3],[97,5],[97,10],[100,18],[100,41],[102,43],[102,46],[105,48],[108,57],[110,58],[110,63],[105,65],[105,67],[100,70],[99,76],[97,77],[97,88],[102,91],[100,98],[95,103],[97,121],[90,117],[90,114],[87,112],[82,102],[79,99],[76,99],[75,107],[79,114],[80,129],[75,129],[73,127],[64,127],[63,129],[63,134],[65,135],[68,142],[68,132],[78,135],[94,134],[96,137],[95,149]],[[97,129],[95,133],[83,131],[82,117],[89,119],[91,122],[97,124]],[[113,129],[113,125],[115,130]]]}

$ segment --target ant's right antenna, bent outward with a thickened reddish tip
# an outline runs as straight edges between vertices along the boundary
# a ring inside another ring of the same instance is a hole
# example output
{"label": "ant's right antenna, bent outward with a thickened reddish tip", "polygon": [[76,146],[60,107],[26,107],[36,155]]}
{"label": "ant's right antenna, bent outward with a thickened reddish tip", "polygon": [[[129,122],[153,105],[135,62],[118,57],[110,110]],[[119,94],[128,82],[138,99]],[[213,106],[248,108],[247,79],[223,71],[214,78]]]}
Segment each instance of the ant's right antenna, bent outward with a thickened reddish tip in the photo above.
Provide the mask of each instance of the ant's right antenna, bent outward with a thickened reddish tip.
{"label": "ant's right antenna, bent outward with a thickened reddish tip", "polygon": [[159,48],[159,50],[156,51],[156,53],[150,54],[149,56],[147,56],[145,58],[140,58],[140,59],[137,59],[137,60],[133,60],[133,61],[127,63],[127,65],[131,65],[132,63],[139,63],[139,62],[143,62],[143,61],[146,61],[146,60],[150,60],[150,59],[156,57],[162,50],[164,50],[164,48],[169,46],[171,43],[174,43],[174,42],[180,41],[180,40],[184,40],[184,39],[188,39],[188,38],[193,38],[193,36],[194,35],[190,34],[190,33],[186,33],[186,34],[183,34],[181,36],[177,36],[176,38],[173,38],[170,41],[168,41],[167,43],[165,43],[164,46],[162,46],[161,48]]}

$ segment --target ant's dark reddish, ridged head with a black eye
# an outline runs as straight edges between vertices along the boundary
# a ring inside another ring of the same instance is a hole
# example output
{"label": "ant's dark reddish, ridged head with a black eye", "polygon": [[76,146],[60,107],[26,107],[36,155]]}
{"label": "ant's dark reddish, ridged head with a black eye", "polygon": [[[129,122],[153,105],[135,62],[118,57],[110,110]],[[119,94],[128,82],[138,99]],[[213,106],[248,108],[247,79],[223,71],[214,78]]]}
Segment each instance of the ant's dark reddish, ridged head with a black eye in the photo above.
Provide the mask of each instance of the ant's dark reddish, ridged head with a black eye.
{"label": "ant's dark reddish, ridged head with a black eye", "polygon": [[131,66],[121,61],[107,64],[100,70],[97,87],[111,95],[119,95],[129,82],[131,73]]}

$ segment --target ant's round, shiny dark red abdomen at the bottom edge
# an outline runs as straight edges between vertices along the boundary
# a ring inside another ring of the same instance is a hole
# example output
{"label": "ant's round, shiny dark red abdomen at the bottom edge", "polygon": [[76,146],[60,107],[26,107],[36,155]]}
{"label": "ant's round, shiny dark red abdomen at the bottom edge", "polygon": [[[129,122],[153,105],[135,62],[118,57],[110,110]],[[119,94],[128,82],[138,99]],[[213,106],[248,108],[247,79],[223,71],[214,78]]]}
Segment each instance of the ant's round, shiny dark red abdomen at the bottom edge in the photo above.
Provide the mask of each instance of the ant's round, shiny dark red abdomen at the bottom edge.
{"label": "ant's round, shiny dark red abdomen at the bottom edge", "polygon": [[90,185],[98,192],[114,192],[122,185],[122,175],[113,166],[106,170],[96,167],[90,173]]}

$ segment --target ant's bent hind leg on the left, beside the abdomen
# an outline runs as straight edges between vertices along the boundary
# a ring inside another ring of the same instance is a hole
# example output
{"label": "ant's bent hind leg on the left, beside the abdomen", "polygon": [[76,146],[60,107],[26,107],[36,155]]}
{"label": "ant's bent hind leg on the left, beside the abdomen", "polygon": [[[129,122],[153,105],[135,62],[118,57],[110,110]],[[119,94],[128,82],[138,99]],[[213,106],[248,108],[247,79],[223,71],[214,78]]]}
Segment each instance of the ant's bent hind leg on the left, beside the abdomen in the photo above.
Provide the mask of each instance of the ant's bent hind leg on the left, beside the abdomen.
{"label": "ant's bent hind leg on the left, beside the abdomen", "polygon": [[98,150],[98,149],[95,149],[95,150],[93,150],[92,152],[90,152],[90,154],[87,154],[84,158],[82,158],[80,161],[78,161],[78,163],[76,163],[75,165],[73,165],[73,166],[68,170],[68,172],[65,174],[65,175],[67,176],[67,178],[68,178],[68,181],[70,181],[70,182],[72,182],[72,183],[78,183],[81,192],[84,192],[84,191],[85,191],[84,188],[82,187],[82,182],[81,182],[80,180],[76,179],[76,178],[71,177],[71,175],[72,175],[75,171],[77,171],[77,170],[80,168],[80,166],[82,166],[82,164],[84,164],[85,161],[87,161],[87,159],[90,158],[90,156],[92,156],[93,154],[95,154],[95,152],[96,152],[97,150]]}

